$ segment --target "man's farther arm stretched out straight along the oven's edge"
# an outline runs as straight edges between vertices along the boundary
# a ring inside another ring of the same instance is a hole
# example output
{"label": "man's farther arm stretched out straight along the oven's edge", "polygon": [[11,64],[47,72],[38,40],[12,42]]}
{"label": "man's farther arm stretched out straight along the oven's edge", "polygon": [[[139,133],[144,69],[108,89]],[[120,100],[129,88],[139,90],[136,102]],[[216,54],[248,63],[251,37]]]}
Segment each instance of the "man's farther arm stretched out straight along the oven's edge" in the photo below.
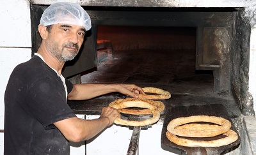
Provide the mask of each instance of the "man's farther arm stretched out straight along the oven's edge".
{"label": "man's farther arm stretched out straight along the oven's edge", "polygon": [[145,94],[134,84],[74,84],[68,100],[88,100],[109,92],[120,92],[133,98],[138,98],[138,93]]}

